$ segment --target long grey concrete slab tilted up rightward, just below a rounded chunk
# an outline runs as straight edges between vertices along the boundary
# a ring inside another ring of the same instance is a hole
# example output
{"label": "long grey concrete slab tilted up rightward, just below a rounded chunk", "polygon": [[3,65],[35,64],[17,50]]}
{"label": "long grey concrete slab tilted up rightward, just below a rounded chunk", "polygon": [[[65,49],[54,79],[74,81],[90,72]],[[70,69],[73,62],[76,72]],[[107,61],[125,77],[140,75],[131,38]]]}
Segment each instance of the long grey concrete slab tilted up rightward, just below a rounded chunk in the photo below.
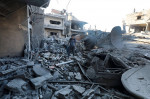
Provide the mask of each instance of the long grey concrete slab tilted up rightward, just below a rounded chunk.
{"label": "long grey concrete slab tilted up rightward, just below a rounded chunk", "polygon": [[46,80],[52,79],[53,76],[49,73],[41,77],[30,79],[31,83],[35,87],[35,89],[41,87]]}

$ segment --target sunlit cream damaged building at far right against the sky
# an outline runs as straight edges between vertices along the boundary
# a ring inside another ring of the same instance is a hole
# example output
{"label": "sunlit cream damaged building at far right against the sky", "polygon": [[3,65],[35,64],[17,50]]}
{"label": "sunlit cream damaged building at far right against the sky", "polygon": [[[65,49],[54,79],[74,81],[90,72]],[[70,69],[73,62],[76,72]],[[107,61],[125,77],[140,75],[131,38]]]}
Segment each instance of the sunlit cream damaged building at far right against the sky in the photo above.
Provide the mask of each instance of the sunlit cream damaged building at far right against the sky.
{"label": "sunlit cream damaged building at far right against the sky", "polygon": [[141,12],[128,14],[123,24],[127,32],[149,32],[150,10],[143,10]]}

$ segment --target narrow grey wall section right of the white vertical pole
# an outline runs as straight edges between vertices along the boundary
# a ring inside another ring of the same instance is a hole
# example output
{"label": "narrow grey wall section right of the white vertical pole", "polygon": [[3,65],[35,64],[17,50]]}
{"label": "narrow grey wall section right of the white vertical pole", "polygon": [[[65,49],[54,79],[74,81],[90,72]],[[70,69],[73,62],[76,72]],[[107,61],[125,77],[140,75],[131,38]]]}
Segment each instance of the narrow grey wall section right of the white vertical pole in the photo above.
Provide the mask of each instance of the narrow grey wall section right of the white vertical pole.
{"label": "narrow grey wall section right of the white vertical pole", "polygon": [[32,11],[31,46],[34,50],[34,48],[40,47],[41,40],[44,39],[44,10],[32,6]]}

